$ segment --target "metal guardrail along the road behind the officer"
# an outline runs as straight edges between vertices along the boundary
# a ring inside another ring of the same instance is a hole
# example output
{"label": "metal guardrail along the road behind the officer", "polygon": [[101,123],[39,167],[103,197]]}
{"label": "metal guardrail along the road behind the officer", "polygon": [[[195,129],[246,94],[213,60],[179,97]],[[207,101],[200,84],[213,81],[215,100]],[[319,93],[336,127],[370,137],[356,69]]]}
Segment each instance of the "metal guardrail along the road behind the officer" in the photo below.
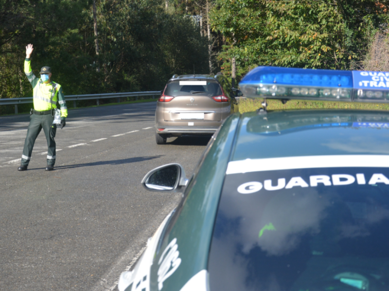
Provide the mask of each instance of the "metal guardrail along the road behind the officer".
{"label": "metal guardrail along the road behind the officer", "polygon": [[[90,100],[96,99],[97,105],[99,105],[99,99],[104,98],[118,98],[118,103],[121,97],[138,97],[139,96],[154,96],[160,95],[160,91],[148,91],[148,92],[127,92],[127,93],[105,93],[105,94],[86,94],[86,95],[67,95],[65,96],[66,101],[73,101],[73,107],[75,101],[78,100]],[[22,98],[0,98],[0,105],[15,105],[15,114],[18,113],[18,104],[33,103],[33,97],[22,97]]]}

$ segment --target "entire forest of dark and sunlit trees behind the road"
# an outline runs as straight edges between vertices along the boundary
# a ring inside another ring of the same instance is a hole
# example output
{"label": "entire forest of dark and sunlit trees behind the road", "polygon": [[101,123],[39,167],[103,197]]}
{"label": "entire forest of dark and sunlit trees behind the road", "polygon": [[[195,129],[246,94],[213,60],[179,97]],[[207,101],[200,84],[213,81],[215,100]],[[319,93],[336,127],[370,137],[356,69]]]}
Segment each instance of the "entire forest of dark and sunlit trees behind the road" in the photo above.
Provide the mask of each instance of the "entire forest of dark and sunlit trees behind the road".
{"label": "entire forest of dark and sunlit trees behind the road", "polygon": [[[161,90],[257,65],[389,71],[388,0],[0,0],[0,98],[32,96],[34,45],[65,95]],[[71,106],[71,105],[70,105]]]}

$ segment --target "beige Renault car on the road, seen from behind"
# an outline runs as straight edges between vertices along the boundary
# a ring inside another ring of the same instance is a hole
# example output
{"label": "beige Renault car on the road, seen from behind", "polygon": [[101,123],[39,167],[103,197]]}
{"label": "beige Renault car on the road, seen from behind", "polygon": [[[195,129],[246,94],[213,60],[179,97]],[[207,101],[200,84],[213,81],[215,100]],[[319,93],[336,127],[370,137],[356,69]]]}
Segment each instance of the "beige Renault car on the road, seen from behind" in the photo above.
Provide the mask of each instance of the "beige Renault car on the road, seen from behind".
{"label": "beige Renault car on the road, seen from behind", "polygon": [[239,111],[235,94],[242,92],[222,74],[174,75],[157,101],[157,144],[183,134],[212,135],[231,113]]}

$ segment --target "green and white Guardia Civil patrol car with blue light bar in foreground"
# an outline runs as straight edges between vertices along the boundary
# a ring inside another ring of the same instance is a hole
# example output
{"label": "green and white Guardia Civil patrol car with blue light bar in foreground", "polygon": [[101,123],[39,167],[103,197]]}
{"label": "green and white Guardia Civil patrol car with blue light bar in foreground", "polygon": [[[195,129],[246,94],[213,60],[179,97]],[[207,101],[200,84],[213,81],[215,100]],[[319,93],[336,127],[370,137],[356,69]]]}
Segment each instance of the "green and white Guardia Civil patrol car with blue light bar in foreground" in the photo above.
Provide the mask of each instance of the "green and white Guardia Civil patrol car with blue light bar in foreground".
{"label": "green and white Guardia Civil patrol car with blue light bar in foreground", "polygon": [[[240,88],[283,102],[388,102],[388,78],[258,67]],[[119,290],[389,290],[388,129],[382,111],[232,114],[189,180],[179,164],[143,178],[183,196]]]}

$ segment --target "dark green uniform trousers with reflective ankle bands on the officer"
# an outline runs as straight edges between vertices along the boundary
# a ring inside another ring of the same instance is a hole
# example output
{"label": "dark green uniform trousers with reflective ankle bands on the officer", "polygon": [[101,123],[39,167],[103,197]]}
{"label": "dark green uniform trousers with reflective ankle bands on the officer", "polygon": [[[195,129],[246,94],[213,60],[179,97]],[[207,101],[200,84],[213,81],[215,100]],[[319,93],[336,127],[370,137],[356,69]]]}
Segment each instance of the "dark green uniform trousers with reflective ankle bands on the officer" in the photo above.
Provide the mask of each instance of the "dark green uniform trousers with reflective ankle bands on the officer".
{"label": "dark green uniform trousers with reflective ankle bands on the officer", "polygon": [[30,124],[27,130],[27,137],[24,142],[23,155],[21,157],[21,165],[27,166],[31,160],[31,154],[33,152],[33,147],[35,140],[38,137],[39,132],[42,130],[45,132],[47,140],[47,164],[53,166],[55,163],[55,132],[57,131],[57,126],[53,124],[54,117],[49,114],[30,115]]}

